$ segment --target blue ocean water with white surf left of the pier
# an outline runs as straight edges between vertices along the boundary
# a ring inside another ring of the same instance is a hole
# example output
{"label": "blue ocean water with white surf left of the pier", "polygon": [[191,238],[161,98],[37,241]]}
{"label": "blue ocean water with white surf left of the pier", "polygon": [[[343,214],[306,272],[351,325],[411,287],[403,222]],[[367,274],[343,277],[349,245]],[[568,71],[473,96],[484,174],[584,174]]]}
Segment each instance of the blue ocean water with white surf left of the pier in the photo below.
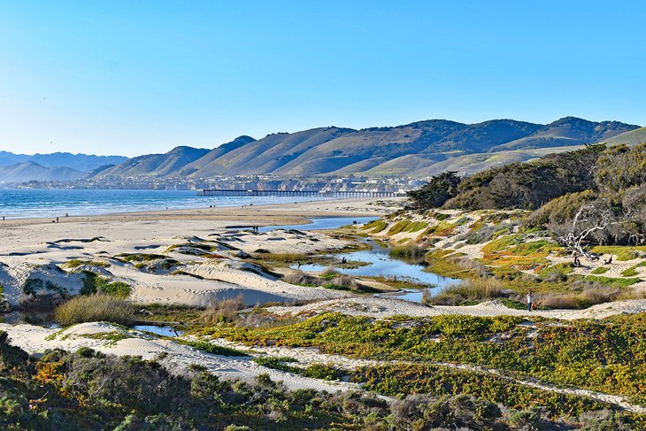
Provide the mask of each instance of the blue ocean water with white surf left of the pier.
{"label": "blue ocean water with white surf left of the pier", "polygon": [[[0,189],[0,217],[25,219],[116,212],[305,202],[313,197],[197,196],[195,190]],[[325,198],[321,198],[324,200]]]}

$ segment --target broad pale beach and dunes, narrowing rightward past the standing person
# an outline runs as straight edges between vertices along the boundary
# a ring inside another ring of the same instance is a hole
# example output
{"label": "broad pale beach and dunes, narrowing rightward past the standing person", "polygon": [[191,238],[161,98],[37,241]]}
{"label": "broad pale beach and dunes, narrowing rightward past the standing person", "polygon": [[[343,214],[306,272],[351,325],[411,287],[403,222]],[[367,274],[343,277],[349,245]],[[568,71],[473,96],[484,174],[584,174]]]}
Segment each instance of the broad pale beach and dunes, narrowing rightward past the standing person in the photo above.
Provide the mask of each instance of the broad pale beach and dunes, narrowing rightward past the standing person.
{"label": "broad pale beach and dunes, narrowing rightward past the standing person", "polygon": [[[523,313],[496,302],[468,307],[428,307],[396,298],[297,286],[246,260],[258,250],[313,254],[341,250],[350,242],[320,231],[278,229],[255,233],[240,227],[304,224],[319,217],[381,216],[393,212],[402,202],[402,199],[342,199],[70,217],[58,223],[50,219],[7,220],[0,224],[3,236],[0,283],[4,298],[14,308],[25,296],[22,288],[27,279],[51,281],[74,295],[81,289],[85,270],[127,283],[132,287],[130,300],[142,304],[204,306],[212,300],[242,295],[245,304],[250,306],[311,303],[274,307],[275,312],[282,313],[334,310],[373,317]],[[137,255],[154,258],[150,263],[124,260]],[[83,265],[66,268],[66,263],[74,259]],[[352,296],[350,301],[348,296]],[[602,304],[583,311],[541,314],[559,319],[601,318],[613,313],[643,311],[644,306],[643,300],[636,300]]]}

